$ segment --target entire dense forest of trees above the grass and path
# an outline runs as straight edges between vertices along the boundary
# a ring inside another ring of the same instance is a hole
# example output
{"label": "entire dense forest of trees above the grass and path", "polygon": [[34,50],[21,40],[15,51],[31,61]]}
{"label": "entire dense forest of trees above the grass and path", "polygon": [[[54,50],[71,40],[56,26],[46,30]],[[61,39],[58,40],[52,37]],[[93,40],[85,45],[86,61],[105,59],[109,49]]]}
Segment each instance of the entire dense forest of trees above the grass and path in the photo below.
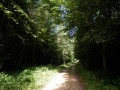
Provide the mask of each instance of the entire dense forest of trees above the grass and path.
{"label": "entire dense forest of trees above the grass and path", "polygon": [[0,69],[60,65],[120,73],[119,0],[1,0]]}

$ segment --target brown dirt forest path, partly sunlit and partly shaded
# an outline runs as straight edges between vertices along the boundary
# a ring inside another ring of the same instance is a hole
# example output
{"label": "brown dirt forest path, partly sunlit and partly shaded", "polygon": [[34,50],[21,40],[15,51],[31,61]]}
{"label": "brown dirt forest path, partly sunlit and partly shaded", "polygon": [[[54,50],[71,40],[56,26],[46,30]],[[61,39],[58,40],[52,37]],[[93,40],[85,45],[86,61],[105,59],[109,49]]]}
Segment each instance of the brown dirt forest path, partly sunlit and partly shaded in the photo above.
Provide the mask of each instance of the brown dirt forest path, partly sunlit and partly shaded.
{"label": "brown dirt forest path, partly sunlit and partly shaded", "polygon": [[55,75],[42,90],[85,90],[85,86],[72,66]]}

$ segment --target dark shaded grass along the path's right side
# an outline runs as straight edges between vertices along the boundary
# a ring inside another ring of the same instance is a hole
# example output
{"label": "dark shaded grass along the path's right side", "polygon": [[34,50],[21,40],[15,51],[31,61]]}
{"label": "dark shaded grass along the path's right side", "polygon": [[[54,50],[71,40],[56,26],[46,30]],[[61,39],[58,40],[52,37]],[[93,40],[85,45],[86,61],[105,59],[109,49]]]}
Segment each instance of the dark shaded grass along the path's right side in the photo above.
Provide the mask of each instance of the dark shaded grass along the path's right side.
{"label": "dark shaded grass along the path's right side", "polygon": [[75,66],[75,70],[84,80],[86,90],[120,90],[120,77],[102,76],[100,72],[89,71],[80,64]]}

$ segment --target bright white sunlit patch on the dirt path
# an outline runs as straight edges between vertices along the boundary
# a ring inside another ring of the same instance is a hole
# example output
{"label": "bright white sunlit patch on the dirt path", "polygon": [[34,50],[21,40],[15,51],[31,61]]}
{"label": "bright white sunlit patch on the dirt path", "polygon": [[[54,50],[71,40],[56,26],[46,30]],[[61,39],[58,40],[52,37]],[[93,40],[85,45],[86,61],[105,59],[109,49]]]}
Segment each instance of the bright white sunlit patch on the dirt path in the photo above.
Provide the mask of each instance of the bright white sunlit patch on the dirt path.
{"label": "bright white sunlit patch on the dirt path", "polygon": [[56,88],[61,87],[67,80],[66,74],[68,73],[58,73],[53,79],[41,90],[55,90]]}

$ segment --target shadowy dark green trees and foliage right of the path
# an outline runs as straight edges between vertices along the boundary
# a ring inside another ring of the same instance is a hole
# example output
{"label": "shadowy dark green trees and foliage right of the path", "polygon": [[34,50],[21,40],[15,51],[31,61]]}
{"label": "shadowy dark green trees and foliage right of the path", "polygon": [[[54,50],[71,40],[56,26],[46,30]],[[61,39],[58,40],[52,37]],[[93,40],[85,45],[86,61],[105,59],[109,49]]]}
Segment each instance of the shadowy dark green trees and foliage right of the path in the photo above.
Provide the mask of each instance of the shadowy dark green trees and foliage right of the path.
{"label": "shadowy dark green trees and foliage right of the path", "polygon": [[66,8],[67,28],[78,28],[76,58],[88,68],[119,72],[119,1],[71,0]]}

